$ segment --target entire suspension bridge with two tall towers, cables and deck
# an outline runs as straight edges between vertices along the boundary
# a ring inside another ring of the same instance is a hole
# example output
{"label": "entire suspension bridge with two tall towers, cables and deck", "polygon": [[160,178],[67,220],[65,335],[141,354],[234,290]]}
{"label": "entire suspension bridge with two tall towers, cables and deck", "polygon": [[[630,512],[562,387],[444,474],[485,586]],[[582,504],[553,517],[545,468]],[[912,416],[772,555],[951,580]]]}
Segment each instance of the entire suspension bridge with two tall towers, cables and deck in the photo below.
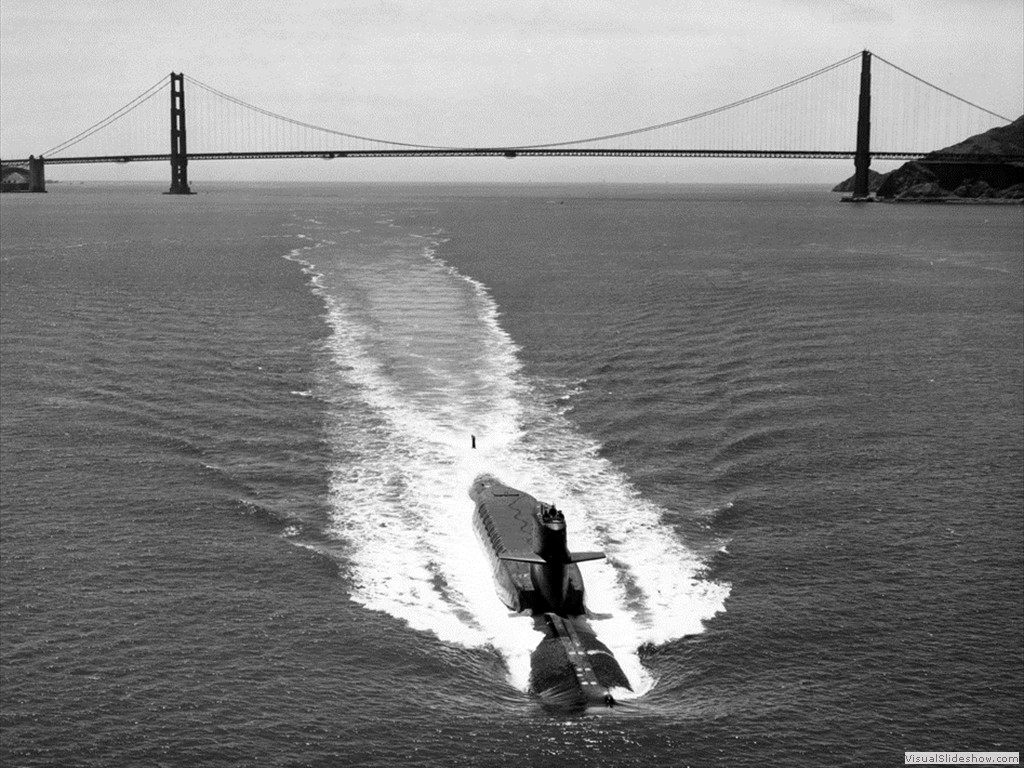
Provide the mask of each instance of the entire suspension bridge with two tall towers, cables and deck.
{"label": "entire suspension bridge with two tall towers, cables and deck", "polygon": [[[872,86],[872,59],[876,68]],[[859,63],[859,67],[857,66]],[[185,84],[189,86],[188,123]],[[170,152],[166,102],[170,95]],[[871,160],[915,160],[1011,119],[864,50],[714,109],[584,138],[474,145],[371,137],[287,117],[180,73],[38,156],[3,162],[4,181],[45,191],[45,166],[169,162],[168,194],[188,195],[188,164],[207,160],[426,157],[852,159],[853,198],[868,197]],[[931,158],[936,159],[936,158]],[[991,162],[983,155],[944,162]],[[1000,161],[1021,158],[999,158]],[[9,184],[8,184],[9,185]]]}

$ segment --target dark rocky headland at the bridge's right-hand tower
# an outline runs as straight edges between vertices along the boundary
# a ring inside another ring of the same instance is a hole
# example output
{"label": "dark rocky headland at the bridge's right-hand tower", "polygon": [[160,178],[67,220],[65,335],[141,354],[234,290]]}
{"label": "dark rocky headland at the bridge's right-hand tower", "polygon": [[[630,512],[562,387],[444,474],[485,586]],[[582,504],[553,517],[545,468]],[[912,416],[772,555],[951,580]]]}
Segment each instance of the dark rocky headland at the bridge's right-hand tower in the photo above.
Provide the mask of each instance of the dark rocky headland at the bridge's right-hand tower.
{"label": "dark rocky headland at the bridge's right-hand tower", "polygon": [[[978,156],[979,161],[949,161],[949,155]],[[904,163],[890,173],[868,171],[868,188],[879,200],[894,202],[1016,202],[1024,204],[1024,115],[1010,125],[966,138],[959,143]],[[983,159],[982,159],[983,158]],[[833,191],[852,191],[853,177]]]}

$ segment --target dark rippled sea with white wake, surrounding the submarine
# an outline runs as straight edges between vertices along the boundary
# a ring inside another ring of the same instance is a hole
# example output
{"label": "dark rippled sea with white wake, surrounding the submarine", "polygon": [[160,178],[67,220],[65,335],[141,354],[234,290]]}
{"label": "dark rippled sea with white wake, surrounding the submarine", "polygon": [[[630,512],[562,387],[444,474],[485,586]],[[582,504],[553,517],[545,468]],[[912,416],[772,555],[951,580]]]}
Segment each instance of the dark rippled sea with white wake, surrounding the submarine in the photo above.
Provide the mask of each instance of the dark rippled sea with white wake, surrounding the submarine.
{"label": "dark rippled sea with white wake, surrounding the submarine", "polygon": [[[1021,207],[164,186],[2,200],[4,768],[1024,748]],[[482,472],[617,707],[527,691]]]}

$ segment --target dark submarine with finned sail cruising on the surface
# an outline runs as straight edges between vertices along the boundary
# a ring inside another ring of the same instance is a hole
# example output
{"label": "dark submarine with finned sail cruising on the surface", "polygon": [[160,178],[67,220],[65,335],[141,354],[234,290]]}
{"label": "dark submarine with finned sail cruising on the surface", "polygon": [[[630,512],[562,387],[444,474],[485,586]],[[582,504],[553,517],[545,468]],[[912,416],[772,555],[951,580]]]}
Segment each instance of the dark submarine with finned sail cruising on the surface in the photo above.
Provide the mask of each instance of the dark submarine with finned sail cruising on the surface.
{"label": "dark submarine with finned sail cruising on the surface", "polygon": [[509,610],[531,614],[544,635],[530,654],[530,691],[555,708],[614,706],[612,689],[632,687],[590,626],[578,565],[604,553],[570,552],[563,512],[492,475],[477,477],[469,496],[498,597]]}

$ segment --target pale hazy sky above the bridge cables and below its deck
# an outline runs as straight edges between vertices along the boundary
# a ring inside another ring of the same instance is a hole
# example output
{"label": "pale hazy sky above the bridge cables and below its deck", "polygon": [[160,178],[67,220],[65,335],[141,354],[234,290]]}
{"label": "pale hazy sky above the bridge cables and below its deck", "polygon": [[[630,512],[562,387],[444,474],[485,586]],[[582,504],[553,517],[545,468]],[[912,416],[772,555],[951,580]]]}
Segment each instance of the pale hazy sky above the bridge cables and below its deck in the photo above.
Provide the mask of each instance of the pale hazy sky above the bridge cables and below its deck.
{"label": "pale hazy sky above the bridge cables and below its deck", "polygon": [[[171,71],[339,130],[485,143],[500,129],[526,143],[672,120],[863,48],[996,113],[1024,112],[1021,0],[2,0],[0,157],[43,152]],[[211,161],[189,173],[198,183],[827,180],[848,165]],[[48,175],[162,179],[169,171],[65,166]]]}

